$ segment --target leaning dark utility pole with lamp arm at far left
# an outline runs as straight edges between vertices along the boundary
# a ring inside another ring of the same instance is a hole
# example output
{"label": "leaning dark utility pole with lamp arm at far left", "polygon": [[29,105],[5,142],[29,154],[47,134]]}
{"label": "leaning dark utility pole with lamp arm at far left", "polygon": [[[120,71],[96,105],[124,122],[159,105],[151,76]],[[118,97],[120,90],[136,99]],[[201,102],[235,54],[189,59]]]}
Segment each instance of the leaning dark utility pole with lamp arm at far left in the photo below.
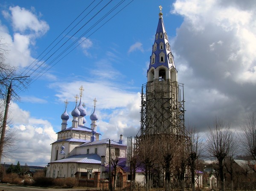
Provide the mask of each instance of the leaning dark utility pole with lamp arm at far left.
{"label": "leaning dark utility pole with lamp arm at far left", "polygon": [[5,136],[5,132],[6,132],[7,115],[8,115],[9,104],[10,104],[11,95],[12,95],[12,80],[20,80],[21,78],[25,78],[25,77],[29,77],[29,76],[6,78],[6,79],[11,80],[11,83],[10,83],[10,86],[7,91],[6,108],[4,111],[3,126],[2,126],[2,132],[1,132],[1,138],[0,138],[0,166],[1,166],[1,159],[2,159],[2,154],[3,154],[3,145],[4,145],[4,136]]}

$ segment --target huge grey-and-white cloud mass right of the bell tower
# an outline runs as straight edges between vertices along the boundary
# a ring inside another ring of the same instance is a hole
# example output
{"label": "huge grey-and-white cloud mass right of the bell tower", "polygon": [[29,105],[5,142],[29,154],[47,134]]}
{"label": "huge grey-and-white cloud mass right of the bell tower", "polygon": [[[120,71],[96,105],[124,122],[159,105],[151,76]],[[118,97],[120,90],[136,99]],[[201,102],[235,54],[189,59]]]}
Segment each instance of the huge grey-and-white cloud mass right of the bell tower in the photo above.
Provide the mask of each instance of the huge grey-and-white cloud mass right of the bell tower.
{"label": "huge grey-and-white cloud mass right of the bell tower", "polygon": [[[215,116],[239,127],[256,106],[256,14],[253,1],[176,0],[184,17],[172,44],[185,84],[186,118],[205,130]],[[189,119],[188,119],[189,117]]]}

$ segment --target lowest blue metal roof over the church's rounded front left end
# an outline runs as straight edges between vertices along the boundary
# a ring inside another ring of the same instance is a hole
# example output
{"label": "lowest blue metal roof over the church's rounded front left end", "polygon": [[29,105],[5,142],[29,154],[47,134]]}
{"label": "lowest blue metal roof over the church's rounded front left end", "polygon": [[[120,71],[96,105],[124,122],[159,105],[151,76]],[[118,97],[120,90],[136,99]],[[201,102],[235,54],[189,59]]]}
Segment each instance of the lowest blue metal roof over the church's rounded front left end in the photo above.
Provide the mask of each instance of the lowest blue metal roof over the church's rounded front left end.
{"label": "lowest blue metal roof over the church's rounded front left end", "polygon": [[101,157],[98,154],[77,154],[64,159],[52,161],[50,163],[53,162],[78,162],[101,164]]}

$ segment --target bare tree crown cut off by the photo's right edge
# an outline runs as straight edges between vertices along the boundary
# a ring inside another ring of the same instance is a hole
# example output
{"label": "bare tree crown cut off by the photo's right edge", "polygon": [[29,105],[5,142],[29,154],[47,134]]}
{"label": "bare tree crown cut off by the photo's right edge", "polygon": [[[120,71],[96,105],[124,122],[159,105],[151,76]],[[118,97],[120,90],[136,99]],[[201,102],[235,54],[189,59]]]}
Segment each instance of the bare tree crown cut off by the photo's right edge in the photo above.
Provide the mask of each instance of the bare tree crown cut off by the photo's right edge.
{"label": "bare tree crown cut off by the photo's right edge", "polygon": [[242,131],[241,143],[244,151],[256,161],[256,111],[247,115]]}

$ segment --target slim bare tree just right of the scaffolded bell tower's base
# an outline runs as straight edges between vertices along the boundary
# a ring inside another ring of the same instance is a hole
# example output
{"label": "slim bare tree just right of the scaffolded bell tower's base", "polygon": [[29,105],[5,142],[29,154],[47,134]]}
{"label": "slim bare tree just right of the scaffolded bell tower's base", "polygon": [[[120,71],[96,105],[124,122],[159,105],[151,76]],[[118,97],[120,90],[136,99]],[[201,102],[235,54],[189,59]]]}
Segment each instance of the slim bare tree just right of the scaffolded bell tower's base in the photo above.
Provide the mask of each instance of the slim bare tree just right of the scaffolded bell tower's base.
{"label": "slim bare tree just right of the scaffolded bell tower's base", "polygon": [[202,139],[198,131],[195,128],[188,128],[188,165],[191,173],[192,191],[195,191],[195,170],[196,161],[201,156],[202,151]]}

